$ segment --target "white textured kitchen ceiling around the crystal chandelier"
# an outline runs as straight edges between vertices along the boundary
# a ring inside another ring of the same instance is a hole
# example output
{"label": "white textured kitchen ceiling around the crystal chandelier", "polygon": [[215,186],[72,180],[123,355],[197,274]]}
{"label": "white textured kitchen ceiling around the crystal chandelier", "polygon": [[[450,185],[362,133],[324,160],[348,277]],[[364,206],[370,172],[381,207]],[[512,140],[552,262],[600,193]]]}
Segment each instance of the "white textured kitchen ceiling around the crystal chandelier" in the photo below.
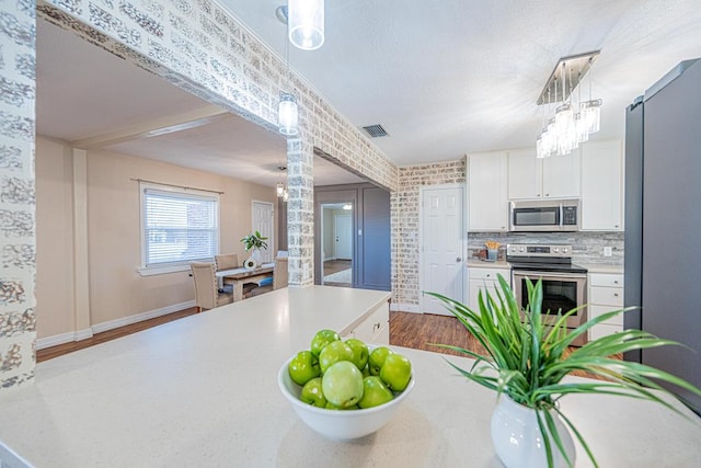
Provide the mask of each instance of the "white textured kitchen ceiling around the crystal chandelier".
{"label": "white textured kitchen ceiling around the crystal chandelier", "polygon": [[[219,0],[284,56],[280,0]],[[679,61],[701,57],[701,2],[326,0],[325,42],[290,67],[399,165],[535,146],[536,105],[561,57],[601,49],[596,138],[622,138],[624,110]]]}

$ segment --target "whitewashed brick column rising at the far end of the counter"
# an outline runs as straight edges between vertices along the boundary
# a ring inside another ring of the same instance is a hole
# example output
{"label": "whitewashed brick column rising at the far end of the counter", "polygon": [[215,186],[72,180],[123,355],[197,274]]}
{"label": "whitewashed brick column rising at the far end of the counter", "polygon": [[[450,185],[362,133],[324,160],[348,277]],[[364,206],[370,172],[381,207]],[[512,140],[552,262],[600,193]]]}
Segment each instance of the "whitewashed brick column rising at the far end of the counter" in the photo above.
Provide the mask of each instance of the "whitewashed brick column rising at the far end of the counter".
{"label": "whitewashed brick column rising at the far end of the counter", "polygon": [[302,139],[287,140],[287,244],[289,285],[314,283],[314,149]]}

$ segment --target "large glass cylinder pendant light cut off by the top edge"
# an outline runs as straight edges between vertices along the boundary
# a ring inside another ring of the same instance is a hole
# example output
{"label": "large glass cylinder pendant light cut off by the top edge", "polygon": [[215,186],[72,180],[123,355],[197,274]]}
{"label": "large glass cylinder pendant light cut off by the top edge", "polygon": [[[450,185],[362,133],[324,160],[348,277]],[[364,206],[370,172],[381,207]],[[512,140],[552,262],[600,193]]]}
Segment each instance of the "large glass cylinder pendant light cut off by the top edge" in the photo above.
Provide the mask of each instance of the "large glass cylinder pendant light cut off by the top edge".
{"label": "large glass cylinder pendant light cut off by the top edge", "polygon": [[324,0],[288,0],[288,36],[295,47],[314,50],[324,43]]}

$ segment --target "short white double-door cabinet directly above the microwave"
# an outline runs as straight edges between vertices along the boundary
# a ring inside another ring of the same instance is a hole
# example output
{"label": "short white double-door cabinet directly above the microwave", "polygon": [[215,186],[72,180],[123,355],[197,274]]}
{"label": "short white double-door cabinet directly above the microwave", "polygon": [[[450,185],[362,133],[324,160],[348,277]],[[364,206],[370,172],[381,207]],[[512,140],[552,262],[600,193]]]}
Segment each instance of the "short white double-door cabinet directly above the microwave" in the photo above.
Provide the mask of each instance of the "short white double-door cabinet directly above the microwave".
{"label": "short white double-door cabinet directly above the microwave", "polygon": [[536,158],[536,147],[508,152],[508,198],[578,197],[579,150],[567,156]]}

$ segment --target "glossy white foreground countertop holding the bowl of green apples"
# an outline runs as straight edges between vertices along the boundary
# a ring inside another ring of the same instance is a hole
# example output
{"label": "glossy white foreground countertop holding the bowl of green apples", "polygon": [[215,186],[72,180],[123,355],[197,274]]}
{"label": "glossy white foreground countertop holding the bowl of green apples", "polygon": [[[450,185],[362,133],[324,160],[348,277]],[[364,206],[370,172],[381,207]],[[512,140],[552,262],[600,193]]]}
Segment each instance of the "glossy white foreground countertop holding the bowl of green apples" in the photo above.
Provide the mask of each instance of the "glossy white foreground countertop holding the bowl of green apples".
{"label": "glossy white foreground countertop holding the bowl of green apples", "polygon": [[[38,467],[501,466],[490,442],[495,395],[457,376],[445,355],[397,349],[413,363],[414,390],[387,426],[354,442],[318,435],[280,395],[280,365],[318,329],[353,327],[387,297],[285,288],[42,363],[34,385],[0,391],[0,458],[21,466],[12,450]],[[602,467],[701,459],[693,415],[606,396],[570,396],[562,409]],[[576,466],[590,466],[577,449]]]}

